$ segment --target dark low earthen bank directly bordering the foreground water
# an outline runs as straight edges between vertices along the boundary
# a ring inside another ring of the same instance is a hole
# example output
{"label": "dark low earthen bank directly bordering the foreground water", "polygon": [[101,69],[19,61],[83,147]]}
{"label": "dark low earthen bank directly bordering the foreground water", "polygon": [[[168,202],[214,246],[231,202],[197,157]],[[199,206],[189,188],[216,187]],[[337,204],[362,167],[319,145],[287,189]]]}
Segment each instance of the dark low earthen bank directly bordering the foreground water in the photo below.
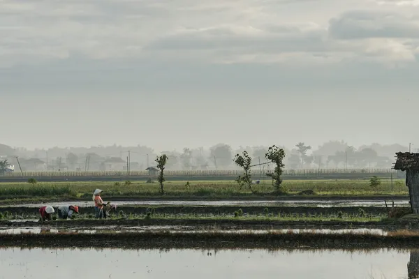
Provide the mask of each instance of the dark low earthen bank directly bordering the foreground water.
{"label": "dark low earthen bank directly bordering the foreground water", "polygon": [[203,234],[171,232],[122,232],[119,234],[0,234],[2,247],[55,248],[311,248],[372,249],[411,248],[419,245],[419,236],[383,236],[378,234]]}

